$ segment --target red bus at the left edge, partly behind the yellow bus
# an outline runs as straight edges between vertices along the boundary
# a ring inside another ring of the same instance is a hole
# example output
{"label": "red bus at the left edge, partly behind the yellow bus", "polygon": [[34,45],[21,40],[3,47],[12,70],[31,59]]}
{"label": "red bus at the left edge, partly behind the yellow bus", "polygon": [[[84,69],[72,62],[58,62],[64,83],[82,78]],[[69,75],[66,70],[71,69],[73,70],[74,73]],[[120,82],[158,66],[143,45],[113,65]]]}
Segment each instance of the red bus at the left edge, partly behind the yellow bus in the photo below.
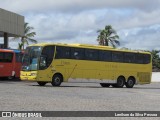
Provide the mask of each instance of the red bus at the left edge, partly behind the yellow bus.
{"label": "red bus at the left edge, partly behind the yellow bus", "polygon": [[13,79],[20,77],[22,53],[19,50],[0,49],[0,77]]}

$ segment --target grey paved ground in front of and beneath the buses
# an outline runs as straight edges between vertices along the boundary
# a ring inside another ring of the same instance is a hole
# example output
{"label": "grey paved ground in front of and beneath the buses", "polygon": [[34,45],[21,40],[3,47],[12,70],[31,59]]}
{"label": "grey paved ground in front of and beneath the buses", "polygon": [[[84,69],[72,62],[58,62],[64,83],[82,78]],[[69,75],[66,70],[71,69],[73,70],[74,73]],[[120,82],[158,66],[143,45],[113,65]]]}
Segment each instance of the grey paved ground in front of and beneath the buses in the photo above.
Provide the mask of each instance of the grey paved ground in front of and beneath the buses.
{"label": "grey paved ground in front of and beneath the buses", "polygon": [[0,81],[1,111],[160,111],[160,83],[102,88],[96,83]]}

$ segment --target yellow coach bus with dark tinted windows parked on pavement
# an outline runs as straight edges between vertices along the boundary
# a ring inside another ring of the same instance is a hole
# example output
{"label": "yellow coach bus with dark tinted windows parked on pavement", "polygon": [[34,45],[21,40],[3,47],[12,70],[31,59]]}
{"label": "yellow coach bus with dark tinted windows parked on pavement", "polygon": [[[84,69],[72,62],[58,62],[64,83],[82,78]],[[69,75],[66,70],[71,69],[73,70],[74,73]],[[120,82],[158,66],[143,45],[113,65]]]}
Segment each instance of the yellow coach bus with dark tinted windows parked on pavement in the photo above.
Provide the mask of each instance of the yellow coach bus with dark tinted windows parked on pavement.
{"label": "yellow coach bus with dark tinted windows parked on pavement", "polygon": [[102,87],[132,88],[151,82],[149,52],[83,44],[35,44],[26,48],[21,80],[40,86],[62,82],[97,82]]}

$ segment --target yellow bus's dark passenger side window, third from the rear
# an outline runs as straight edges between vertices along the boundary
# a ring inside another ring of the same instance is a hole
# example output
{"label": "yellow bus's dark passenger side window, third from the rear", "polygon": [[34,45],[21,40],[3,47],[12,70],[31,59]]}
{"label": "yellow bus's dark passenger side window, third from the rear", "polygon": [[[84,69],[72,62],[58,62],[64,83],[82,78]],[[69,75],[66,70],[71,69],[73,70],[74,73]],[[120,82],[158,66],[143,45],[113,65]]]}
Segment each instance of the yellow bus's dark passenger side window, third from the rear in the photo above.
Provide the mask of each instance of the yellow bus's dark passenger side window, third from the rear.
{"label": "yellow bus's dark passenger side window, third from the rear", "polygon": [[135,62],[135,54],[134,53],[124,53],[124,62],[134,63]]}

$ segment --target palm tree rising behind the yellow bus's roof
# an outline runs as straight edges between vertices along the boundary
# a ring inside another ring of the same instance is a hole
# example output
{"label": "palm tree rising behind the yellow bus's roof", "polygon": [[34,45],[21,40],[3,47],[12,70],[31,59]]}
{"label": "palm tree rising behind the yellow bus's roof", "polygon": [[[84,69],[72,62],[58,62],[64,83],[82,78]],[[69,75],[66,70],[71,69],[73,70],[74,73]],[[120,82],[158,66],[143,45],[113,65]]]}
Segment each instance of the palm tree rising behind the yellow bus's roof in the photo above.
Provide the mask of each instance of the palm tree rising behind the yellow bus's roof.
{"label": "palm tree rising behind the yellow bus's roof", "polygon": [[97,37],[99,45],[109,46],[110,43],[114,48],[116,47],[116,44],[120,45],[120,42],[117,40],[119,39],[119,36],[111,25],[106,25],[105,29],[98,30],[97,32],[99,33]]}

